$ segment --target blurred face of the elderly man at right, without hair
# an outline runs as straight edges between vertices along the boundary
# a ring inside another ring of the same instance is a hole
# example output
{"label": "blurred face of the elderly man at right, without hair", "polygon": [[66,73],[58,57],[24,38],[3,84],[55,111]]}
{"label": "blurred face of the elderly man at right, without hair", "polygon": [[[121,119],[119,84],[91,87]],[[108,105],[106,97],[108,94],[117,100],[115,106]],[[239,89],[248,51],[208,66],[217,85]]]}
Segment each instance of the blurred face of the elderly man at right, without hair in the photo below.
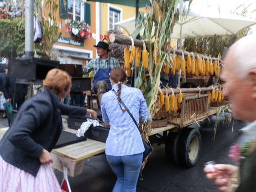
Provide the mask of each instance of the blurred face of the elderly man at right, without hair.
{"label": "blurred face of the elderly man at right, without hair", "polygon": [[[221,75],[225,81],[223,94],[228,98],[231,110],[236,119],[246,122],[253,122],[255,118],[255,101],[252,98],[252,82],[249,77],[240,78],[234,70],[234,59],[232,53],[227,55],[225,60],[224,73]],[[240,64],[240,63],[239,63]],[[239,65],[242,67],[243,63]]]}

